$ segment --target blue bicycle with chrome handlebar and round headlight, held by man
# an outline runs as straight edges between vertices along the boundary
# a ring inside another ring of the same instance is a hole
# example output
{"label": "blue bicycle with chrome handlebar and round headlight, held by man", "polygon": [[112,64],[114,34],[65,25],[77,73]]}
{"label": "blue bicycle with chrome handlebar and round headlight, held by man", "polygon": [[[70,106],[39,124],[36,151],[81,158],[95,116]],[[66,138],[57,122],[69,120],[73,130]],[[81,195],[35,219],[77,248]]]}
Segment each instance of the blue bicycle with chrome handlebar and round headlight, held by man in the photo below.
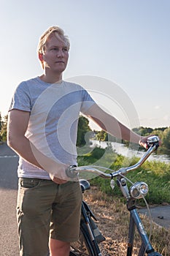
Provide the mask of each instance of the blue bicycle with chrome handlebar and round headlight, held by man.
{"label": "blue bicycle with chrome handlebar and round headlight, held by man", "polygon": [[[130,167],[121,167],[119,170],[113,171],[106,167],[88,165],[81,167],[70,166],[66,170],[67,176],[69,176],[69,178],[72,179],[77,179],[80,173],[82,172],[93,173],[97,176],[100,176],[101,178],[109,178],[111,179],[112,188],[115,187],[115,182],[113,178],[116,177],[117,186],[120,188],[123,196],[125,197],[127,209],[130,212],[126,256],[131,256],[133,253],[135,227],[142,241],[138,256],[161,256],[161,254],[155,252],[155,249],[153,248],[152,244],[150,244],[150,238],[147,236],[147,233],[144,230],[144,225],[142,224],[142,220],[140,219],[139,213],[136,209],[136,200],[142,197],[144,198],[144,196],[147,195],[148,186],[146,183],[138,181],[135,184],[133,184],[130,188],[128,188],[128,179],[125,177],[126,173],[132,170],[136,170],[136,168],[140,167],[146,161],[146,159],[150,157],[150,154],[152,154],[152,152],[154,152],[158,148],[158,141],[159,138],[157,136],[151,136],[150,138],[148,138],[147,151],[144,153],[141,159],[139,159],[139,162]],[[109,170],[111,173],[104,173],[102,169]],[[80,185],[82,187],[82,192],[85,192],[85,190],[90,189],[90,183],[85,179],[80,179]],[[104,241],[104,236],[102,236],[100,230],[98,230],[98,227],[96,226],[96,223],[93,221],[93,219],[96,220],[96,217],[90,210],[88,204],[85,203],[84,200],[82,200],[80,238],[78,241],[71,244],[72,249],[70,251],[70,256],[102,256],[98,244],[101,241]]]}

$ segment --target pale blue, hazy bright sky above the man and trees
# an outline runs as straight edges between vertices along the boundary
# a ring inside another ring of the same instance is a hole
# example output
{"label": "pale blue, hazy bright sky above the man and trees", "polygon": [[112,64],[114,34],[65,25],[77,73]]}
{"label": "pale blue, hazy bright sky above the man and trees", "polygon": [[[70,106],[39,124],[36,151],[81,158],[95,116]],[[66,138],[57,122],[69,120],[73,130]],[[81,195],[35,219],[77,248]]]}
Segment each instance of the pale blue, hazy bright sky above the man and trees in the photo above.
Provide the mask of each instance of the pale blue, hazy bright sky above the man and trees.
{"label": "pale blue, hazy bright sky above the man and trees", "polygon": [[63,79],[81,83],[128,127],[170,127],[169,0],[0,0],[0,112],[42,74],[36,48],[50,26],[69,37]]}

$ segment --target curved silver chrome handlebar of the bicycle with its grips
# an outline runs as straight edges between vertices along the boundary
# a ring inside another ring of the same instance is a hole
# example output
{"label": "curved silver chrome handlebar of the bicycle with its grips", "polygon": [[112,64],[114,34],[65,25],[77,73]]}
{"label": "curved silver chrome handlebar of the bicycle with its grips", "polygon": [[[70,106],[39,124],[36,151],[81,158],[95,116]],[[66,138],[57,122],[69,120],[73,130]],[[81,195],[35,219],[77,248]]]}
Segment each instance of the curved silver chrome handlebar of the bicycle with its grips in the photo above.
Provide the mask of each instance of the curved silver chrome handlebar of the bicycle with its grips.
{"label": "curved silver chrome handlebar of the bicycle with its grips", "polygon": [[[75,166],[70,166],[69,168],[66,169],[66,175],[69,178],[76,178],[79,173],[82,172],[89,172],[96,174],[97,176],[101,176],[101,178],[114,178],[116,176],[121,176],[125,175],[125,173],[128,173],[131,170],[136,170],[139,168],[148,157],[150,157],[150,154],[152,154],[159,146],[159,138],[158,136],[151,136],[147,138],[147,146],[149,147],[145,154],[139,159],[139,162],[137,162],[135,165],[131,165],[129,167],[121,167],[117,171],[112,171],[111,169],[107,167],[99,167],[95,165],[86,165],[86,166],[80,166],[80,167],[75,167]],[[98,168],[102,168],[104,170],[110,170],[111,173],[104,173],[101,170],[98,170]]]}

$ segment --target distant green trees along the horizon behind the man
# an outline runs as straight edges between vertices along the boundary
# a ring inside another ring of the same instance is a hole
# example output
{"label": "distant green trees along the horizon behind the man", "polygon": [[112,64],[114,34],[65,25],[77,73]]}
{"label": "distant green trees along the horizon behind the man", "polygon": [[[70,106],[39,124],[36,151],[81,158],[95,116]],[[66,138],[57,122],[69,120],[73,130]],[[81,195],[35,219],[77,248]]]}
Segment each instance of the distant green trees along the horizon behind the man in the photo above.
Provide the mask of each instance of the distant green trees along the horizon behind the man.
{"label": "distant green trees along the horizon behind the man", "polygon": [[[134,132],[138,133],[142,136],[147,135],[158,135],[161,138],[161,148],[170,149],[170,127],[161,127],[161,128],[149,128],[149,127],[139,127],[134,128]],[[78,134],[77,134],[77,146],[84,146],[89,142],[90,138],[95,138],[96,140],[103,140],[103,141],[118,141],[116,138],[112,136],[108,136],[107,132],[104,130],[101,131],[92,131],[89,127],[88,118],[85,116],[80,116],[79,123],[78,123]],[[4,118],[1,117],[0,113],[0,141],[7,140],[7,116]],[[120,140],[120,143],[127,143],[126,141]]]}

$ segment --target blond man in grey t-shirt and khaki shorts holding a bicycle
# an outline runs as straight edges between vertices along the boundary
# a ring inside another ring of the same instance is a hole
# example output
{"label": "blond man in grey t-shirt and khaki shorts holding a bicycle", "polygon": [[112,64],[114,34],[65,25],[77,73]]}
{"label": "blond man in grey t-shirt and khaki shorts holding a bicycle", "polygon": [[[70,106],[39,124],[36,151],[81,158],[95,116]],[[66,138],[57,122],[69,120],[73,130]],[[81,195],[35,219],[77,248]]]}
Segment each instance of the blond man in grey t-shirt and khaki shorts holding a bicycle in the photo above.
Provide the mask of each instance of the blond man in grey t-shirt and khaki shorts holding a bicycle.
{"label": "blond man in grey t-shirt and khaki shorts holding a bicycle", "polygon": [[[141,138],[96,105],[81,86],[62,80],[69,39],[53,26],[39,39],[43,74],[20,83],[9,109],[7,143],[20,156],[18,233],[20,256],[68,256],[79,235],[82,195],[65,170],[77,165],[80,112],[111,135],[146,146]],[[50,236],[49,236],[50,233]]]}

